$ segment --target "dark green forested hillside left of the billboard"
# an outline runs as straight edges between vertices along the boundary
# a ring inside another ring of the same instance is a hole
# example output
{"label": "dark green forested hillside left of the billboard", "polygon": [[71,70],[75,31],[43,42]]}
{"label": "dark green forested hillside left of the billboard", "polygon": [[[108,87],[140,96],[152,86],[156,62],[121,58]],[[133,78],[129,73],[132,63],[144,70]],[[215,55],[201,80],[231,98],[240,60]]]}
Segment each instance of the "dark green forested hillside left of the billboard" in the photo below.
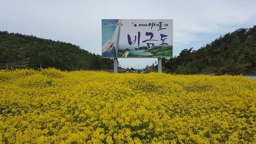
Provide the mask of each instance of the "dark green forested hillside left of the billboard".
{"label": "dark green forested hillside left of the billboard", "polygon": [[0,69],[11,67],[113,69],[113,59],[101,58],[71,43],[0,31]]}

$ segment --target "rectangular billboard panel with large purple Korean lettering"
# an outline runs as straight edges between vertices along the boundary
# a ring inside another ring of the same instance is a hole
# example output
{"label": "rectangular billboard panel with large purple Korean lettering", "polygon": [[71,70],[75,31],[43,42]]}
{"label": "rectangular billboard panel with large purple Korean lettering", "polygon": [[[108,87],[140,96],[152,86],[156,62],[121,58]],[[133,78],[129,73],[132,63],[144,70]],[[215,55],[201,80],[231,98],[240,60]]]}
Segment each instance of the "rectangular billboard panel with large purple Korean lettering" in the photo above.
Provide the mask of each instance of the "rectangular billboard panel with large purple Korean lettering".
{"label": "rectangular billboard panel with large purple Korean lettering", "polygon": [[102,19],[102,58],[171,58],[173,20]]}

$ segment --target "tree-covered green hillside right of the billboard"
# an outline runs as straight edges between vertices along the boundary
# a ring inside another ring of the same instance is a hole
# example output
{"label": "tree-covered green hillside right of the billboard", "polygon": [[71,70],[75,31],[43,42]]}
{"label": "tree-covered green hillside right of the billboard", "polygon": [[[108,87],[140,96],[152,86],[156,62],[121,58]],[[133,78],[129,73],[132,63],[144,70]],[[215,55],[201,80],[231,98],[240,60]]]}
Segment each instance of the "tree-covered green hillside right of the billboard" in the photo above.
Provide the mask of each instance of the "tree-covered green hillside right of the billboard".
{"label": "tree-covered green hillside right of the billboard", "polygon": [[183,49],[162,63],[167,72],[178,74],[256,75],[256,26],[227,33],[198,50]]}

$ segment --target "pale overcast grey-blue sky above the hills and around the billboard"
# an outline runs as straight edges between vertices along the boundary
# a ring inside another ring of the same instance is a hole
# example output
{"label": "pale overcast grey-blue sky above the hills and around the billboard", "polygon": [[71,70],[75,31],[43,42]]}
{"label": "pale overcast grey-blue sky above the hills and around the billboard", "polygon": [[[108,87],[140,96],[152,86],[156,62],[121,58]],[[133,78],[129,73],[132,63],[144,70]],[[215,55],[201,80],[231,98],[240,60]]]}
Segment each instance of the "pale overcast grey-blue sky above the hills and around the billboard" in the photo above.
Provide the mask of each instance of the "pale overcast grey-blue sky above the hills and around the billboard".
{"label": "pale overcast grey-blue sky above the hills and around the billboard", "polygon": [[[101,55],[102,19],[172,19],[173,56],[256,25],[256,0],[0,0],[0,31],[59,40]],[[144,68],[157,58],[118,58]]]}

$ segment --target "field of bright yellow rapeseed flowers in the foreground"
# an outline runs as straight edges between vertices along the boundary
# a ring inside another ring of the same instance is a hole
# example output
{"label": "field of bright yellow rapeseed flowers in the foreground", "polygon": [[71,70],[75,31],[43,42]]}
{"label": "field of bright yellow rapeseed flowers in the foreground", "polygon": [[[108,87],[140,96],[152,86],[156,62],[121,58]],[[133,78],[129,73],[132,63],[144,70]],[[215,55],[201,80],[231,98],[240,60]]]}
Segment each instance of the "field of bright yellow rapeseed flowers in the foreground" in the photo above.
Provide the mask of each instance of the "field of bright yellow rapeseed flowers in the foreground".
{"label": "field of bright yellow rapeseed flowers in the foreground", "polygon": [[255,144],[243,76],[0,71],[3,144]]}

